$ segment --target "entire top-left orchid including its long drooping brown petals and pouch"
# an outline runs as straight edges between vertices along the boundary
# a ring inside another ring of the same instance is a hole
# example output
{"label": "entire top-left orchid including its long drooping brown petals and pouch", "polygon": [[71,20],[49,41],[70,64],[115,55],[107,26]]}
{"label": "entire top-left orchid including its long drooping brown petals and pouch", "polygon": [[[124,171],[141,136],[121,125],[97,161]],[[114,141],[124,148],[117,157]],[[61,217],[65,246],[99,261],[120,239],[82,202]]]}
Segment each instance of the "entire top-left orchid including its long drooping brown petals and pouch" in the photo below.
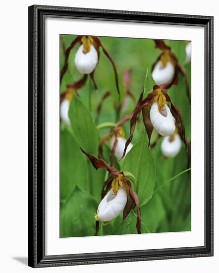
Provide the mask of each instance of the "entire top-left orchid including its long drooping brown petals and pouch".
{"label": "entire top-left orchid including its long drooping brown petals and pouch", "polygon": [[90,77],[94,83],[95,89],[97,89],[97,84],[94,80],[94,71],[100,58],[100,47],[101,47],[104,54],[110,60],[110,63],[114,70],[116,89],[118,94],[120,94],[119,86],[118,86],[118,73],[117,73],[115,63],[112,57],[110,56],[110,53],[105,49],[105,47],[102,45],[101,41],[99,40],[97,36],[77,36],[72,41],[70,46],[65,50],[65,61],[64,61],[64,66],[60,72],[60,82],[65,72],[68,69],[69,54],[71,50],[77,44],[81,44],[81,45],[75,55],[74,61],[75,61],[75,66],[79,70],[79,72],[83,74],[90,74]]}

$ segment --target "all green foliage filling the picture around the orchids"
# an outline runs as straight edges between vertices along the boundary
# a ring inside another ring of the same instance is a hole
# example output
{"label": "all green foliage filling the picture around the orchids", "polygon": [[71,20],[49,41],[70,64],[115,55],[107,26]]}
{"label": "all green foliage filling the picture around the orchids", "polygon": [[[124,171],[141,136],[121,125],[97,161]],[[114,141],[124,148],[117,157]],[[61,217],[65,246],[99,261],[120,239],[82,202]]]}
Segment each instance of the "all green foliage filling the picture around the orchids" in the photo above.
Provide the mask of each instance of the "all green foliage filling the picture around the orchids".
{"label": "all green foliage filling the picture around the orchids", "polygon": [[[64,35],[63,41],[67,48],[76,36]],[[97,129],[100,123],[114,123],[116,109],[124,99],[125,87],[122,81],[123,72],[131,68],[130,90],[135,100],[143,93],[143,99],[152,91],[155,85],[151,75],[153,63],[161,54],[150,39],[129,39],[100,37],[103,46],[110,52],[119,77],[120,101],[116,91],[114,72],[109,59],[100,49],[100,59],[95,69],[95,81],[98,90],[88,77],[83,88],[73,94],[69,109],[71,128],[60,124],[60,237],[94,236],[95,213],[101,202],[101,192],[109,174],[106,170],[96,169],[90,160],[80,150],[98,156],[100,139],[109,133],[109,128]],[[165,41],[171,47],[179,63],[184,66],[191,82],[191,65],[185,64],[185,43],[183,41]],[[66,86],[81,78],[74,65],[74,56],[79,45],[73,48],[69,55],[68,70],[63,76],[60,93]],[[64,64],[63,47],[60,43],[60,69]],[[98,123],[97,107],[106,91],[110,91],[103,105]],[[179,82],[168,91],[171,101],[179,108],[185,123],[185,135],[191,139],[191,107],[186,94],[185,81],[179,73]],[[127,108],[120,113],[124,117],[133,111],[136,101],[129,97]],[[130,131],[130,122],[122,126],[125,137]],[[154,130],[151,143],[156,140]],[[142,115],[136,123],[132,139],[134,145],[125,159],[119,161],[114,157],[114,167],[124,171],[130,179],[132,188],[139,197],[142,213],[142,233],[175,232],[191,230],[191,183],[190,172],[182,173],[189,167],[188,154],[185,145],[174,158],[164,158],[161,152],[161,139],[152,150],[148,148],[148,138],[142,122]],[[103,146],[103,156],[110,164],[110,144]],[[171,182],[168,180],[180,174]],[[125,220],[122,213],[108,225],[100,222],[98,235],[137,234],[136,208],[131,210]]]}

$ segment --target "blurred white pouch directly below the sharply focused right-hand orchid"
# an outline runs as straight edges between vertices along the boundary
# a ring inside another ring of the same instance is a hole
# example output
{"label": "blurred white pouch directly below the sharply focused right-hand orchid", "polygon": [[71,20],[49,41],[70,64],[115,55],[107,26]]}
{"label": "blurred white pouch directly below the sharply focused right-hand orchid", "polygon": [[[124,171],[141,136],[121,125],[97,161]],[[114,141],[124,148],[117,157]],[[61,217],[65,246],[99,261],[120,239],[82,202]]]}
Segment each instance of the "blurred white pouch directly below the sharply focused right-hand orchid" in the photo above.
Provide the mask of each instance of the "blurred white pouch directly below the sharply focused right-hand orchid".
{"label": "blurred white pouch directly below the sharply focused right-hand orchid", "polygon": [[161,150],[165,157],[174,157],[180,151],[181,138],[178,134],[175,134],[174,138],[171,136],[165,136],[161,143]]}

